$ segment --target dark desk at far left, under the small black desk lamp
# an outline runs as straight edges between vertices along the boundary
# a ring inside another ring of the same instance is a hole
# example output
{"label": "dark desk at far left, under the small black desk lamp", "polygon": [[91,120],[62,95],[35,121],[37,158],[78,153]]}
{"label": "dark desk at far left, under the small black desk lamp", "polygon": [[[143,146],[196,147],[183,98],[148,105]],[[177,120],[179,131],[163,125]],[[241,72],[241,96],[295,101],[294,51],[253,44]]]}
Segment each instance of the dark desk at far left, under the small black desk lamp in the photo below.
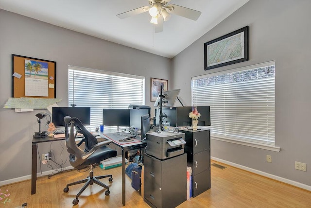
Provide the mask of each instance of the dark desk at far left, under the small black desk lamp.
{"label": "dark desk at far left, under the small black desk lamp", "polygon": [[49,142],[49,141],[59,141],[65,140],[65,138],[54,137],[42,137],[34,138],[32,141],[32,159],[31,159],[31,194],[35,194],[36,180],[37,180],[37,152],[38,152],[38,143]]}

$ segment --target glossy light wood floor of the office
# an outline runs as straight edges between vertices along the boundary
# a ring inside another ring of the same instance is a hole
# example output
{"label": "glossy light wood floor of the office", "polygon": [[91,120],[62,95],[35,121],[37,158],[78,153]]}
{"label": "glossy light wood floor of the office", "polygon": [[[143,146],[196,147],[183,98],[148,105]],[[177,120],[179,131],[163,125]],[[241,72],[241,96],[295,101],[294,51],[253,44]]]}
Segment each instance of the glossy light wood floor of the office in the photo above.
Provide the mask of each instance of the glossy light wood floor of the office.
{"label": "glossy light wood floor of the office", "polygon": [[[213,163],[213,161],[211,161]],[[311,208],[311,192],[302,190],[278,181],[249,173],[225,164],[220,169],[211,166],[211,189],[195,198],[185,201],[178,208]],[[51,179],[37,179],[36,194],[31,195],[31,180],[3,186],[8,190],[11,201],[0,208],[16,208],[28,203],[28,208],[118,208],[121,200],[121,167],[103,171],[99,167],[94,175],[113,174],[113,182],[102,179],[110,186],[110,195],[105,196],[105,189],[94,184],[79,197],[79,204],[72,206],[75,194],[83,185],[69,187],[63,192],[67,183],[80,180],[88,171],[79,173],[76,170],[53,175]],[[131,187],[126,176],[126,205],[124,208],[149,208],[143,198]]]}

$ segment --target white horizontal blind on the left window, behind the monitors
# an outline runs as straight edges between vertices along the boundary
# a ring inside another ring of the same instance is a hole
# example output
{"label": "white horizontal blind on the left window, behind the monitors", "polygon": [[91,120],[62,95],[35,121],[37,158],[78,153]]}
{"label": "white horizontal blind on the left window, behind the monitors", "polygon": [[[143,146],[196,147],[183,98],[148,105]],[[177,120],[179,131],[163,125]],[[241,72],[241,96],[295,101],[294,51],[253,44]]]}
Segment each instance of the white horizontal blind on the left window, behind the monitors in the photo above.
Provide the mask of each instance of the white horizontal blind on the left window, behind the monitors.
{"label": "white horizontal blind on the left window, behind the monitors", "polygon": [[103,122],[103,108],[145,104],[145,77],[69,66],[69,106],[91,107],[90,128]]}

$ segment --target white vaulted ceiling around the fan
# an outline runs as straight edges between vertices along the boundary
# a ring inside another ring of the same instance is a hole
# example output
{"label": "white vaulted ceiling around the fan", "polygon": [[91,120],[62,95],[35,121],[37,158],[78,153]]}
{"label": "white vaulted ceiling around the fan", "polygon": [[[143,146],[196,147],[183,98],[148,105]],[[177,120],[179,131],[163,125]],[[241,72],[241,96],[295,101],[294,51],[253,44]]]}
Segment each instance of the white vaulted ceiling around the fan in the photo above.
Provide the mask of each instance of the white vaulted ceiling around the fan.
{"label": "white vaulted ceiling around the fan", "polygon": [[[148,12],[120,19],[117,14],[148,0],[0,0],[0,8],[145,52],[173,58],[248,0],[172,0],[201,11],[198,20],[172,14],[163,32],[153,33]],[[208,41],[208,40],[207,40]]]}

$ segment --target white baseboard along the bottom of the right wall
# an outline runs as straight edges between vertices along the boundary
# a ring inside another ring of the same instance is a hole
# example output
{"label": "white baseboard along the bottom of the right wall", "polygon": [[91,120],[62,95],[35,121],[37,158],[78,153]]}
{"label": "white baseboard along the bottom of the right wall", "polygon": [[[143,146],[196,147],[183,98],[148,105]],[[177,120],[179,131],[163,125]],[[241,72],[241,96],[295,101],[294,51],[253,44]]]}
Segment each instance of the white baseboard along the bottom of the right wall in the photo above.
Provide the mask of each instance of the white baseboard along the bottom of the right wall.
{"label": "white baseboard along the bottom of the right wall", "polygon": [[295,187],[298,187],[298,188],[301,188],[301,189],[305,189],[305,190],[311,191],[311,186],[308,186],[308,185],[303,184],[303,183],[299,183],[299,182],[292,181],[292,180],[289,180],[289,179],[286,179],[286,178],[282,178],[282,177],[279,177],[279,176],[276,176],[276,175],[273,175],[273,174],[270,174],[270,173],[265,173],[265,172],[262,172],[262,171],[258,171],[258,170],[255,170],[255,169],[252,169],[252,168],[248,168],[246,166],[242,166],[242,165],[239,165],[239,164],[236,164],[236,163],[233,163],[233,162],[229,162],[229,161],[226,161],[226,160],[223,160],[223,159],[219,159],[219,158],[216,158],[216,157],[210,157],[210,158],[212,160],[215,160],[215,161],[218,161],[218,162],[221,162],[221,163],[224,163],[224,164],[227,164],[227,165],[230,165],[230,166],[233,166],[233,167],[245,170],[245,171],[249,171],[251,173],[256,173],[256,174],[265,176],[267,178],[272,178],[274,180],[277,180],[277,181],[280,181],[280,182],[283,182],[283,183],[287,183],[287,184],[290,184],[292,186],[295,186]]}

